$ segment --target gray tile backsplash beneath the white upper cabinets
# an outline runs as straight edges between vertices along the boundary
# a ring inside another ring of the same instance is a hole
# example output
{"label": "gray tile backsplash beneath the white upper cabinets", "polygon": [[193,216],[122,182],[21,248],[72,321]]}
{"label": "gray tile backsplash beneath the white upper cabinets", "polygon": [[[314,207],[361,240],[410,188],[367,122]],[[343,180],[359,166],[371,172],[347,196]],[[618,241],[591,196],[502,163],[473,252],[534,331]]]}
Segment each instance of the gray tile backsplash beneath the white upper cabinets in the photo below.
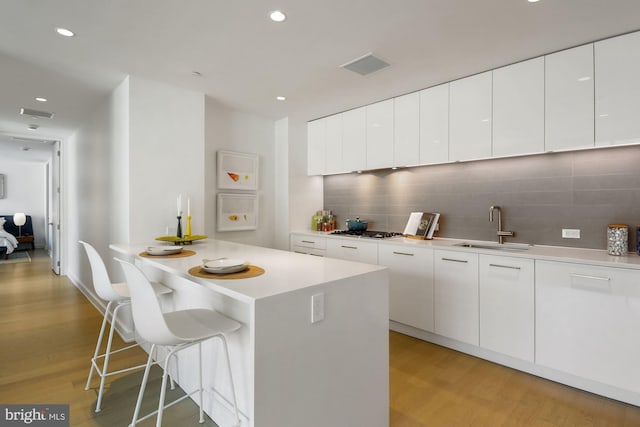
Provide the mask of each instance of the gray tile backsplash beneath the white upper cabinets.
{"label": "gray tile backsplash beneath the white upper cabinets", "polygon": [[[502,207],[506,241],[606,249],[607,224],[640,225],[640,147],[611,147],[527,157],[422,166],[324,178],[324,209],[344,228],[402,231],[410,212],[440,212],[437,236],[496,240],[489,207]],[[580,239],[563,239],[578,228]]]}

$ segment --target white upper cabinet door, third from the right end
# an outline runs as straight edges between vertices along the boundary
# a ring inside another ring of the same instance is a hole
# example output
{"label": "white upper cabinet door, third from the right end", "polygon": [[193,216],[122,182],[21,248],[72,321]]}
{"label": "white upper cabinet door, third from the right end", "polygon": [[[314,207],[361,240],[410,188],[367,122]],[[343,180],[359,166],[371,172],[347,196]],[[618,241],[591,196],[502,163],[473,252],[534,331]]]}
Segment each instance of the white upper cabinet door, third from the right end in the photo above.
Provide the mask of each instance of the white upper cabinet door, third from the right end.
{"label": "white upper cabinet door, third from the right end", "polygon": [[544,58],[493,71],[494,157],[544,150]]}

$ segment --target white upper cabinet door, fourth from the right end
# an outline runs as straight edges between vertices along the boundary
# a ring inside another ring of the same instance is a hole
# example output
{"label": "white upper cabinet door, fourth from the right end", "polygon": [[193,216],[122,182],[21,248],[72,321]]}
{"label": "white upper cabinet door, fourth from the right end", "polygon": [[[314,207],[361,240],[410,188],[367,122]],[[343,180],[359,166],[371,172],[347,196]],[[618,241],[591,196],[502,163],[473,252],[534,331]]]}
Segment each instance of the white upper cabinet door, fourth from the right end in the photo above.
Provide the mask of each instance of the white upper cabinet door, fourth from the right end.
{"label": "white upper cabinet door, fourth from the right end", "polygon": [[491,157],[491,74],[449,84],[449,160]]}

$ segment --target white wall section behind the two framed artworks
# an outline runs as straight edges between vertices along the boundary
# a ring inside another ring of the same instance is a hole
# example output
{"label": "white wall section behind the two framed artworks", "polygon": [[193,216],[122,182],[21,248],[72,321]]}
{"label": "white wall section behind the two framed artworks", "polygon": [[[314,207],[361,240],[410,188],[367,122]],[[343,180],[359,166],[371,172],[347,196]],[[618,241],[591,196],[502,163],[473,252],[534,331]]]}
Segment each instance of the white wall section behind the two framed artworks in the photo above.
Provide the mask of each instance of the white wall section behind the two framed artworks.
{"label": "white wall section behind the two framed artworks", "polygon": [[[205,234],[257,246],[273,247],[275,216],[275,125],[273,120],[234,110],[207,97],[205,148]],[[218,150],[253,153],[259,156],[258,229],[216,231],[216,153]]]}

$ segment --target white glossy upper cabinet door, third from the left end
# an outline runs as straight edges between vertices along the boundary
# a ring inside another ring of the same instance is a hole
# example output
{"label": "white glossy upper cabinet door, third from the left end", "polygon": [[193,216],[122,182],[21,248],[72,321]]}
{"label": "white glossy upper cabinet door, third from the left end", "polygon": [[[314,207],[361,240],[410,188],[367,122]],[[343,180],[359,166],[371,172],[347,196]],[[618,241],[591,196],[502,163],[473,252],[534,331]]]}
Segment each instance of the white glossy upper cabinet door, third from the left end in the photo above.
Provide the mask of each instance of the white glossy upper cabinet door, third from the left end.
{"label": "white glossy upper cabinet door, third from the left end", "polygon": [[342,168],[345,172],[367,168],[367,115],[365,107],[342,113]]}

